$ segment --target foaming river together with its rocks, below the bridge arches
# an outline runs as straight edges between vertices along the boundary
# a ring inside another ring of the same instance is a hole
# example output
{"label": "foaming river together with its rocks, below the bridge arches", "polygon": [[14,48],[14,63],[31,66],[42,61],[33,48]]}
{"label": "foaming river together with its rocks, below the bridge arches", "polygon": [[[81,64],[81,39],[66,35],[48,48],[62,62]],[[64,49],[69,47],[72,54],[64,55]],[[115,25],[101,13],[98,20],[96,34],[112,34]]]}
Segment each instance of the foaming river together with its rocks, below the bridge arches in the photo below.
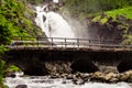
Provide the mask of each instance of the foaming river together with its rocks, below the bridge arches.
{"label": "foaming river together with its rocks, below the bridge arches", "polygon": [[4,84],[9,88],[132,88],[130,82],[123,81],[123,75],[120,76],[122,81],[112,76],[101,76],[99,72],[92,75],[77,73],[48,76],[24,76],[21,73],[15,77],[6,77]]}

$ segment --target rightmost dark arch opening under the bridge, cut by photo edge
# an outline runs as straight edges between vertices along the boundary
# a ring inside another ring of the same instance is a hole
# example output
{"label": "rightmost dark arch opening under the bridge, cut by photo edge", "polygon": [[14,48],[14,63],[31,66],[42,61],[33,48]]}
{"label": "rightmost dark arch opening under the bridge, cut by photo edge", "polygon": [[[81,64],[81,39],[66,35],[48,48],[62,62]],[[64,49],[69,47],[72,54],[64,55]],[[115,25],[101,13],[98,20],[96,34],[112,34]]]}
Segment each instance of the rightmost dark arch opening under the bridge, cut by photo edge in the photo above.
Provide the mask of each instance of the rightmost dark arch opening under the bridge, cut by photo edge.
{"label": "rightmost dark arch opening under the bridge, cut by photo edge", "polygon": [[119,73],[123,73],[127,70],[132,69],[132,61],[122,61],[119,65],[118,65],[118,70]]}

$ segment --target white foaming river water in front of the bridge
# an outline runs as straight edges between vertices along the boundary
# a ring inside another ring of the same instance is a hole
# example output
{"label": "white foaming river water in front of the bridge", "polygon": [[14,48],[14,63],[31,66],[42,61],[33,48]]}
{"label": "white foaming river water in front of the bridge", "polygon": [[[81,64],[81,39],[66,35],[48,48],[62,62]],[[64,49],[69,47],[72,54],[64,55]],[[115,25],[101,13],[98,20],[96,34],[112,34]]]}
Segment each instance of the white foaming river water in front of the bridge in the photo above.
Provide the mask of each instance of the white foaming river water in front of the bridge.
{"label": "white foaming river water in front of the bridge", "polygon": [[[65,84],[64,84],[65,82]],[[131,88],[127,82],[118,84],[101,84],[86,82],[85,85],[74,85],[67,79],[51,79],[48,76],[32,76],[32,77],[7,77],[6,85],[9,88],[15,88],[18,85],[26,85],[28,88]]]}

